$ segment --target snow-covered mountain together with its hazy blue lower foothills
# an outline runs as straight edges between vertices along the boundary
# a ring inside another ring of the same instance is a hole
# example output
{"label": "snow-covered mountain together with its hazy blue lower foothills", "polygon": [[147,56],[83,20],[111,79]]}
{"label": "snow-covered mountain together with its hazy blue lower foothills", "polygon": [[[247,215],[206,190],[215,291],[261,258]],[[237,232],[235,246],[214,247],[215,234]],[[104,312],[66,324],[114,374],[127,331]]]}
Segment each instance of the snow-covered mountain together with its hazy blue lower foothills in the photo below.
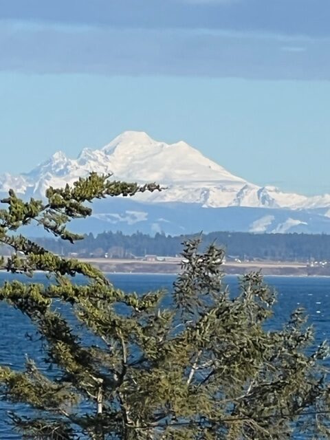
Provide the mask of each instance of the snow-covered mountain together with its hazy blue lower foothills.
{"label": "snow-covered mountain together with its hazy blue lower foothills", "polygon": [[[122,133],[100,150],[84,148],[77,159],[69,159],[59,151],[30,173],[17,177],[1,175],[0,192],[13,188],[23,197],[43,197],[49,186],[72,184],[91,171],[112,173],[113,179],[124,181],[155,181],[166,187],[162,192],[145,192],[117,203],[113,199],[96,203],[94,225],[89,220],[89,230],[94,228],[93,232],[107,229],[128,232],[127,227],[130,232],[137,229],[196,232],[206,231],[209,222],[207,229],[212,230],[221,226],[255,232],[330,232],[330,195],[306,197],[287,194],[272,186],[256,186],[232,175],[186,142],[169,145],[137,131]],[[227,208],[227,211],[206,208]],[[173,210],[177,211],[177,219]],[[194,212],[195,225],[191,219],[188,222],[184,219],[189,210]],[[230,219],[230,212],[241,217],[240,225],[237,219]],[[203,221],[203,216],[208,221]],[[227,217],[228,224],[223,224]]]}

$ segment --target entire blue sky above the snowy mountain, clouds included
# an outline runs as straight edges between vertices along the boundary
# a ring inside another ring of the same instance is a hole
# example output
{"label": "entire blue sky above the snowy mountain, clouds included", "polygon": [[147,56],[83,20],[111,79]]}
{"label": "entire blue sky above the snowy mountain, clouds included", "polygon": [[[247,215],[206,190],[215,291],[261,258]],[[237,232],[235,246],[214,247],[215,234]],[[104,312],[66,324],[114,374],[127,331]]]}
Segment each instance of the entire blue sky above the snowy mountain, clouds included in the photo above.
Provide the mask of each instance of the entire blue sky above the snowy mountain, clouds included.
{"label": "entire blue sky above the snowy mountain, clouds included", "polygon": [[329,0],[0,0],[0,173],[124,130],[330,192]]}

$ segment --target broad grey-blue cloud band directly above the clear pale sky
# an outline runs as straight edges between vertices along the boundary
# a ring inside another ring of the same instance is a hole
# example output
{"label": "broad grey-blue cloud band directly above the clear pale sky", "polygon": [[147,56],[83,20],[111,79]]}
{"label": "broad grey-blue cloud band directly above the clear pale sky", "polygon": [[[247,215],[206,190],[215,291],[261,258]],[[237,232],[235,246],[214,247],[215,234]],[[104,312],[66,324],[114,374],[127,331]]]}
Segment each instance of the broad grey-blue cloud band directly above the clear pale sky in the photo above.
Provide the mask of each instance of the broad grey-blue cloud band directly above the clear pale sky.
{"label": "broad grey-blue cloud band directly above the clear pale sky", "polygon": [[0,70],[330,80],[330,39],[197,30],[6,25]]}

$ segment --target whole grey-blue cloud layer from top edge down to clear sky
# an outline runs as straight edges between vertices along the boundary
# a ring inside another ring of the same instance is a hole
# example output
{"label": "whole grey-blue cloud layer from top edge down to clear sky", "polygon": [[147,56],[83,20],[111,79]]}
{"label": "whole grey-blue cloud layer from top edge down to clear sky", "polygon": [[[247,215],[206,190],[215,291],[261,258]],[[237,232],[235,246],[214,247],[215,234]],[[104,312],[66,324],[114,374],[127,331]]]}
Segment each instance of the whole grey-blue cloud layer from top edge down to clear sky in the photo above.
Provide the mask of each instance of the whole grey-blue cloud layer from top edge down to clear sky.
{"label": "whole grey-blue cloud layer from top edge down to clear sky", "polygon": [[0,6],[0,71],[330,80],[329,0]]}

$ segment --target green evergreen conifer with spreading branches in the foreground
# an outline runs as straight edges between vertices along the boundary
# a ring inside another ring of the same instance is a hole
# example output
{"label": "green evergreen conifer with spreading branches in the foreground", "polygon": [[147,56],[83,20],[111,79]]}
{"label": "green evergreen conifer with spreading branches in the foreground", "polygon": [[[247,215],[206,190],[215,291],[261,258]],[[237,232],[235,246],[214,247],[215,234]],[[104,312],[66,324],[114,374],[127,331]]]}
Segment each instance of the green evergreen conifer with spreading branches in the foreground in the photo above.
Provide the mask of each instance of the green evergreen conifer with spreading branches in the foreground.
{"label": "green evergreen conifer with spreading branches in the foreground", "polygon": [[[223,250],[210,244],[201,252],[199,240],[187,241],[166,308],[164,292],[125,294],[91,265],[10,232],[36,221],[72,241],[67,222],[91,213],[86,201],[155,189],[92,174],[72,188],[50,188],[47,203],[25,203],[13,192],[5,199],[0,242],[15,252],[3,267],[52,277],[47,285],[12,281],[0,288],[0,299],[38,329],[54,371],[30,359],[23,371],[0,367],[3,398],[31,408],[30,417],[11,415],[22,438],[329,438],[329,384],[320,362],[327,344],[311,350],[313,331],[299,309],[282,329],[266,330],[276,298],[261,274],[243,276],[233,298],[223,285]],[[75,283],[76,274],[85,276],[84,285]],[[55,300],[79,326],[55,309]],[[87,343],[87,333],[96,342]]]}

